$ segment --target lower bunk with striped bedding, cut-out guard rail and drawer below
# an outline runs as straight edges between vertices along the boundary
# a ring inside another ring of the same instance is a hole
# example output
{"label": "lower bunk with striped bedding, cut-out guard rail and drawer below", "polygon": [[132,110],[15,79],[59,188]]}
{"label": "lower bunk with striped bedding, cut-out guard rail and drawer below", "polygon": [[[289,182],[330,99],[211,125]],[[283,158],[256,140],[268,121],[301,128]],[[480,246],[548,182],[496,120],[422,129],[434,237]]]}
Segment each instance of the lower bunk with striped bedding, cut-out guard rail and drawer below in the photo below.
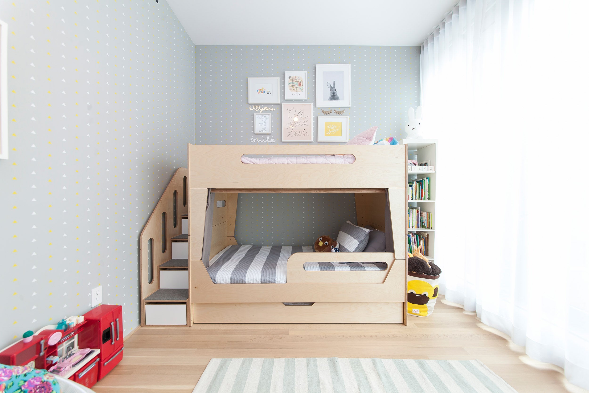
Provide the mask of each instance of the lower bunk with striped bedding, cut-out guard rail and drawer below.
{"label": "lower bunk with striped bedding, cut-out guard rail and drawer below", "polygon": [[406,264],[394,253],[231,245],[191,260],[193,323],[404,323]]}

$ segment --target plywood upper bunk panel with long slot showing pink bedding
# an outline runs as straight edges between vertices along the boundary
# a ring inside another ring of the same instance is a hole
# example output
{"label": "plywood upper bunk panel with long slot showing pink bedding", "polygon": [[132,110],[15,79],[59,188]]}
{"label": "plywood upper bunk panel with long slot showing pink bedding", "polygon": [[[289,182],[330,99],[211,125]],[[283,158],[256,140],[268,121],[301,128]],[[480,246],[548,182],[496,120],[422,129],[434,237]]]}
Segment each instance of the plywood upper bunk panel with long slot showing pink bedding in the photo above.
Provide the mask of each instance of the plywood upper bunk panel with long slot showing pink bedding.
{"label": "plywood upper bunk panel with long slot showing pink bedding", "polygon": [[[345,155],[349,163],[252,164],[246,155]],[[234,192],[384,192],[405,189],[405,145],[194,145],[188,144],[191,189]]]}

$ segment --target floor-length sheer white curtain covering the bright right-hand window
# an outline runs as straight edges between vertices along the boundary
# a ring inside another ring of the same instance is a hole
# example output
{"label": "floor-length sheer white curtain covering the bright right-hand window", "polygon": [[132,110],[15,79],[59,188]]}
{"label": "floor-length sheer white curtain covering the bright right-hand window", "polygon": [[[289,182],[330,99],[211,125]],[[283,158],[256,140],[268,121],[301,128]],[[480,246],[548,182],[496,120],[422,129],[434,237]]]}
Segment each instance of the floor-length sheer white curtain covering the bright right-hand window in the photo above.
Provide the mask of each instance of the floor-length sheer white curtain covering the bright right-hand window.
{"label": "floor-length sheer white curtain covering the bright right-hand window", "polygon": [[588,18],[585,1],[462,0],[421,52],[446,299],[587,389]]}

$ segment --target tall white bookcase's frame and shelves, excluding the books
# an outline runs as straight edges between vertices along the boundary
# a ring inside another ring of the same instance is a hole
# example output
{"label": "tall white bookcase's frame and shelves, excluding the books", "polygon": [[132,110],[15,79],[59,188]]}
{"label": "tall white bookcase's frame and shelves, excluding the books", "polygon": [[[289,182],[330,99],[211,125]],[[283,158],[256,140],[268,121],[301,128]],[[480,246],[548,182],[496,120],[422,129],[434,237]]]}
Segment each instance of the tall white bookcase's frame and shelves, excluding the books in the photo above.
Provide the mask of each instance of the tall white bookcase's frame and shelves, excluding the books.
{"label": "tall white bookcase's frame and shelves, excluding the books", "polygon": [[[408,159],[415,160],[418,164],[427,165],[434,167],[434,171],[407,171],[408,183],[413,183],[412,190],[418,187],[418,190],[423,188],[429,188],[429,199],[430,200],[408,200],[407,206],[413,209],[419,209],[421,214],[423,212],[430,213],[430,219],[432,223],[436,223],[435,210],[436,210],[436,153],[438,149],[438,140],[435,139],[403,139],[401,144],[407,145],[409,153]],[[424,182],[419,182],[419,179],[428,178]],[[415,186],[415,181],[418,180],[418,186]],[[423,195],[423,194],[422,194]],[[411,220],[414,220],[412,216]],[[409,219],[408,219],[409,221]],[[415,225],[415,223],[413,223]],[[419,223],[418,223],[419,225]],[[421,244],[425,246],[425,252],[428,253],[426,256],[429,260],[434,260],[435,255],[435,229],[426,228],[408,228],[408,246]]]}

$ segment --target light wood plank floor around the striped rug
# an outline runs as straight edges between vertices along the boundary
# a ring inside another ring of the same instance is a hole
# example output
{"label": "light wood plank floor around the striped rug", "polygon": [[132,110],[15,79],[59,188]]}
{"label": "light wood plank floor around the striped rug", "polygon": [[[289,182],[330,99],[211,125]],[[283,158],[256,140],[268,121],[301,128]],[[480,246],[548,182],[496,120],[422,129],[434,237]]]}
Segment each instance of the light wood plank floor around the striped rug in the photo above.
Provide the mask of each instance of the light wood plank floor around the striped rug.
{"label": "light wood plank floor around the striped rug", "polygon": [[97,393],[190,393],[211,358],[479,359],[519,393],[586,392],[533,361],[474,313],[439,298],[427,318],[397,324],[235,324],[140,328]]}

